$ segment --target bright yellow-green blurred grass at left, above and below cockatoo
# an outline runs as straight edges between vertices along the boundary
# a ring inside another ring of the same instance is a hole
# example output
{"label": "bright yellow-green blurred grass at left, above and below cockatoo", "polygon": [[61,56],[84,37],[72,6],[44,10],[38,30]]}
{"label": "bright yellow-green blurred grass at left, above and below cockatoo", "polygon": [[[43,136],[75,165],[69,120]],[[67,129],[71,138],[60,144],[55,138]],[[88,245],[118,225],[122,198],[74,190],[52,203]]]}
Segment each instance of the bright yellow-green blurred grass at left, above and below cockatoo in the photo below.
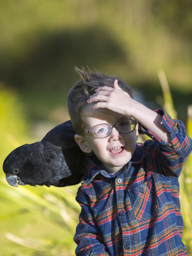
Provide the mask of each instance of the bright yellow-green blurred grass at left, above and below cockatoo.
{"label": "bright yellow-green blurred grass at left, above and below cockatoo", "polygon": [[[34,142],[24,105],[14,90],[0,87],[0,165],[14,148]],[[73,236],[80,207],[77,186],[9,186],[0,174],[0,255],[74,255]]]}

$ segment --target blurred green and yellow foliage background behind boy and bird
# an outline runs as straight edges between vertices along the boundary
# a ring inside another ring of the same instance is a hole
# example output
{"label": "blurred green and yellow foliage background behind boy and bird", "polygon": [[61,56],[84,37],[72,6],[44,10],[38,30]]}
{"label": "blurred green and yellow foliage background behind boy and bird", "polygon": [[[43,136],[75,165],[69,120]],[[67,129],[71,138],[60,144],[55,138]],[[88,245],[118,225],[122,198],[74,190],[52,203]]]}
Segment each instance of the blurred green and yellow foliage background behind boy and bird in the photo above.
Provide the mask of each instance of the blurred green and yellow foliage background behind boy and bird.
{"label": "blurred green and yellow foliage background behind boy and bird", "polygon": [[[190,0],[0,0],[1,166],[14,148],[69,119],[66,95],[79,80],[74,65],[122,77],[138,101],[177,114],[192,136],[191,30]],[[191,164],[190,156],[180,177],[189,255]],[[3,171],[0,178],[0,255],[74,255],[79,185],[14,188]]]}

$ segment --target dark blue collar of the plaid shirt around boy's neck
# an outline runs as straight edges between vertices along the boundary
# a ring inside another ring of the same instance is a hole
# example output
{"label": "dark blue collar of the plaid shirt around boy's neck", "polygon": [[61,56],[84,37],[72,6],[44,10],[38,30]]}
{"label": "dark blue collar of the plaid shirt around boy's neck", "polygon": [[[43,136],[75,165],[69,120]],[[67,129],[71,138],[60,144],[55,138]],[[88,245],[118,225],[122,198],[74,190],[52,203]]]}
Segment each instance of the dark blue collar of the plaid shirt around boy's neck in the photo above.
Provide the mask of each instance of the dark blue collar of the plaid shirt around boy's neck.
{"label": "dark blue collar of the plaid shirt around boy's neck", "polygon": [[[131,160],[126,164],[126,166],[123,168],[122,171],[127,172],[129,168],[131,167],[131,164],[140,164],[143,159],[143,144],[137,144],[136,143],[136,149],[135,152],[131,158]],[[86,156],[86,164],[87,164],[87,172],[85,174],[86,177],[86,183],[90,184],[92,180],[95,178],[97,174],[102,174],[102,176],[106,178],[113,178],[115,177],[115,174],[110,174],[107,171],[101,169],[101,167],[94,163],[92,158],[90,156]]]}

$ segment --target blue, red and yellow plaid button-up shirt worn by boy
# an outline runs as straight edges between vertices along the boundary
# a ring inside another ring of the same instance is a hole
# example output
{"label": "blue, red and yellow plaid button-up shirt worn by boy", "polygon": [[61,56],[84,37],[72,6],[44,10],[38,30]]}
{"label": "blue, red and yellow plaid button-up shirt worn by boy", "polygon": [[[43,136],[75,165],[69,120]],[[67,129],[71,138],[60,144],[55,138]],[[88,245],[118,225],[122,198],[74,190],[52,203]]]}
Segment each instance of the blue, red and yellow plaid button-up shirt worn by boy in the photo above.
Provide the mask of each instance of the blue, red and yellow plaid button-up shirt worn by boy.
{"label": "blue, red and yellow plaid button-up shirt worn by boy", "polygon": [[82,210],[74,241],[76,255],[183,256],[183,218],[178,176],[191,152],[192,141],[181,121],[162,109],[171,142],[136,144],[124,169],[115,176],[88,159],[86,181],[77,192]]}

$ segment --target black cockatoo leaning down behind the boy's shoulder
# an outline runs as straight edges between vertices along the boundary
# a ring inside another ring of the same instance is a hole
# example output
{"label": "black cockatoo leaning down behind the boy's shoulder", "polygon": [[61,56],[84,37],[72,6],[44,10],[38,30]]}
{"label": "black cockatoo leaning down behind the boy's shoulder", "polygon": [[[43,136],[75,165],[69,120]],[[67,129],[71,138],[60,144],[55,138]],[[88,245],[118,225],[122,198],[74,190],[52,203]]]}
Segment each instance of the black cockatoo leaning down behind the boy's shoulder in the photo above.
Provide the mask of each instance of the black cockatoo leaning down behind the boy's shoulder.
{"label": "black cockatoo leaning down behind the boy's shoulder", "polygon": [[[14,187],[18,184],[48,187],[78,184],[86,171],[86,155],[75,142],[74,135],[69,120],[54,127],[41,141],[13,150],[3,163],[7,182]],[[100,165],[94,153],[90,157]]]}

